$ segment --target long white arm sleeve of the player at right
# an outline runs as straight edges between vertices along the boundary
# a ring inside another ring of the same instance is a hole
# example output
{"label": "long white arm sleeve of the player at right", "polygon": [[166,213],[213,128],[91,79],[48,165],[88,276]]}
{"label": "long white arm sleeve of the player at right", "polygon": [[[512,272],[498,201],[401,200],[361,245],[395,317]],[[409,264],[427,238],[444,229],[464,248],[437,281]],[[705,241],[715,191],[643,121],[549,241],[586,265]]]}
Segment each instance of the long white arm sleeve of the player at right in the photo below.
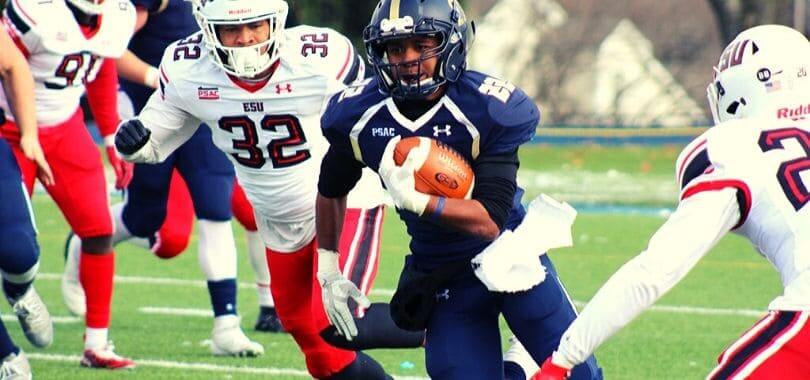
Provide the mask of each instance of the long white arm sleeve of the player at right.
{"label": "long white arm sleeve of the player at right", "polygon": [[740,218],[735,190],[696,194],[650,239],[647,250],[602,286],[563,335],[554,362],[584,362],[607,338],[663,296]]}

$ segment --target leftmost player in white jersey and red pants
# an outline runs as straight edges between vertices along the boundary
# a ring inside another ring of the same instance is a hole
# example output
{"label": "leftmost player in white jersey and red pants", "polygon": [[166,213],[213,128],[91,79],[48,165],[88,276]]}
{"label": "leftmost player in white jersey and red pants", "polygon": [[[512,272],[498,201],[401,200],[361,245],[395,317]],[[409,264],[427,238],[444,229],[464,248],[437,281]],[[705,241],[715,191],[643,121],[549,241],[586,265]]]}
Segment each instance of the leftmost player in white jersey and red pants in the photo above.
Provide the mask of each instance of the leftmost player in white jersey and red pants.
{"label": "leftmost player in white jersey and red pants", "polygon": [[[45,190],[82,238],[80,281],[87,294],[82,365],[131,368],[134,363],[116,355],[108,341],[115,266],[112,218],[101,157],[84,125],[79,98],[86,90],[116,187],[122,189],[132,178],[132,165],[118,158],[112,146],[118,124],[114,58],[132,35],[134,8],[126,0],[11,0],[3,16],[34,76],[39,140],[54,175]],[[4,92],[0,108],[10,108]],[[30,193],[37,168],[25,159],[19,128],[9,119],[0,129]]]}

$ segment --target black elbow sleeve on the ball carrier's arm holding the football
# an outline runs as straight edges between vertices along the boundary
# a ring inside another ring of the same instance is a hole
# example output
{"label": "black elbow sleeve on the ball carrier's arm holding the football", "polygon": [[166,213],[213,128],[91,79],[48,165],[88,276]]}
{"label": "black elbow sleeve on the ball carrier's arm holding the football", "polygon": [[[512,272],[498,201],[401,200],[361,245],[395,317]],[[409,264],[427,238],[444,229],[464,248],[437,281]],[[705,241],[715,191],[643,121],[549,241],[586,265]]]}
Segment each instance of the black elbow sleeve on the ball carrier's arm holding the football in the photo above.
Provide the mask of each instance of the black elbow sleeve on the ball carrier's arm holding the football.
{"label": "black elbow sleeve on the ball carrier's arm holding the football", "polygon": [[475,187],[472,198],[481,202],[501,230],[517,191],[518,166],[517,149],[504,154],[481,156],[473,163]]}

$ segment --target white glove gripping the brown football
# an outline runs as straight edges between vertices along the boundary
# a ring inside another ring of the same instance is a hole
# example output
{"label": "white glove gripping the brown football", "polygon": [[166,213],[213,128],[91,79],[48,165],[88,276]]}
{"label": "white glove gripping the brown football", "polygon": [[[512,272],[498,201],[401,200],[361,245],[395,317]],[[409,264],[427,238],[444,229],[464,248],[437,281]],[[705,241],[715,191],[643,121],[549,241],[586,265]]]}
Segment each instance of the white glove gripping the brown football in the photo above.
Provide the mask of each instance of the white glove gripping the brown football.
{"label": "white glove gripping the brown football", "polygon": [[427,160],[430,144],[420,141],[419,145],[408,153],[402,166],[397,166],[394,163],[394,148],[400,138],[401,136],[397,136],[388,141],[380,159],[378,172],[394,200],[394,205],[398,209],[408,210],[421,216],[430,201],[430,195],[416,191],[416,180],[413,175]]}

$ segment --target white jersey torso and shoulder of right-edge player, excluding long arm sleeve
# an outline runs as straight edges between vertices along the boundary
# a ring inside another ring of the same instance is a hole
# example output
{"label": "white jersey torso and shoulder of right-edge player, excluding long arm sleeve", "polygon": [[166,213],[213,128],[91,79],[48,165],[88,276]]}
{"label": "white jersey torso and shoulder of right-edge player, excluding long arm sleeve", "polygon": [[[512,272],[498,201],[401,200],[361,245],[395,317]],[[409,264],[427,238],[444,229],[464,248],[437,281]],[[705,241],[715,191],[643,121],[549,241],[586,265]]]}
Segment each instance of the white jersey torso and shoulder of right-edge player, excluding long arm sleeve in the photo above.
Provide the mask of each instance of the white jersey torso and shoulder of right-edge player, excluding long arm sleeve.
{"label": "white jersey torso and shoulder of right-edge player, excluding long arm sleeve", "polygon": [[810,121],[737,120],[709,129],[678,159],[681,198],[737,189],[745,236],[779,271],[772,310],[810,310]]}

